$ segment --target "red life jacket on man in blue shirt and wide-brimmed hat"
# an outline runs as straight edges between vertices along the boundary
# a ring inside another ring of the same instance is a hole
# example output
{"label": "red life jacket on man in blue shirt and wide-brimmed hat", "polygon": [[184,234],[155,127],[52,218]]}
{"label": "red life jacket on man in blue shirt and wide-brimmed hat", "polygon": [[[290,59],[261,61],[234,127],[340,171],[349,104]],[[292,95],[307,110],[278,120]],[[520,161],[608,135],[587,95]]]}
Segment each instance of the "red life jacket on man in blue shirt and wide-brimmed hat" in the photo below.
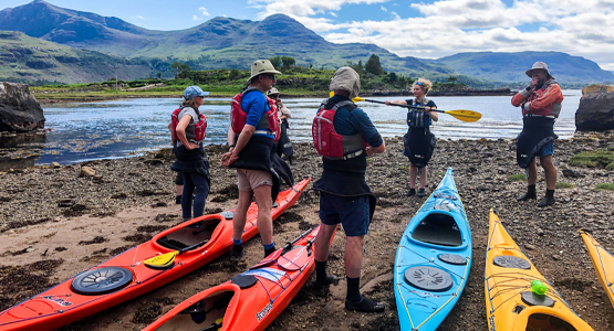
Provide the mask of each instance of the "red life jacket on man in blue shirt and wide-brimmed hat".
{"label": "red life jacket on man in blue shirt and wide-brimmed hat", "polygon": [[[232,103],[230,105],[230,126],[232,127],[232,131],[235,131],[235,134],[237,135],[239,135],[243,130],[243,127],[246,126],[246,122],[248,119],[248,114],[241,108],[241,100],[243,99],[243,96],[246,94],[254,90],[259,90],[259,89],[256,87],[248,88],[242,93],[239,93],[232,98]],[[267,104],[269,105],[269,111],[267,111],[266,117],[263,115],[260,118],[260,122],[258,124],[257,129],[264,128],[269,130],[270,132],[268,134],[272,134],[274,136],[273,141],[278,142],[281,136],[281,128],[279,126],[279,117],[278,117],[278,107],[273,99],[269,98],[268,96],[264,96],[264,97],[267,98]]]}

